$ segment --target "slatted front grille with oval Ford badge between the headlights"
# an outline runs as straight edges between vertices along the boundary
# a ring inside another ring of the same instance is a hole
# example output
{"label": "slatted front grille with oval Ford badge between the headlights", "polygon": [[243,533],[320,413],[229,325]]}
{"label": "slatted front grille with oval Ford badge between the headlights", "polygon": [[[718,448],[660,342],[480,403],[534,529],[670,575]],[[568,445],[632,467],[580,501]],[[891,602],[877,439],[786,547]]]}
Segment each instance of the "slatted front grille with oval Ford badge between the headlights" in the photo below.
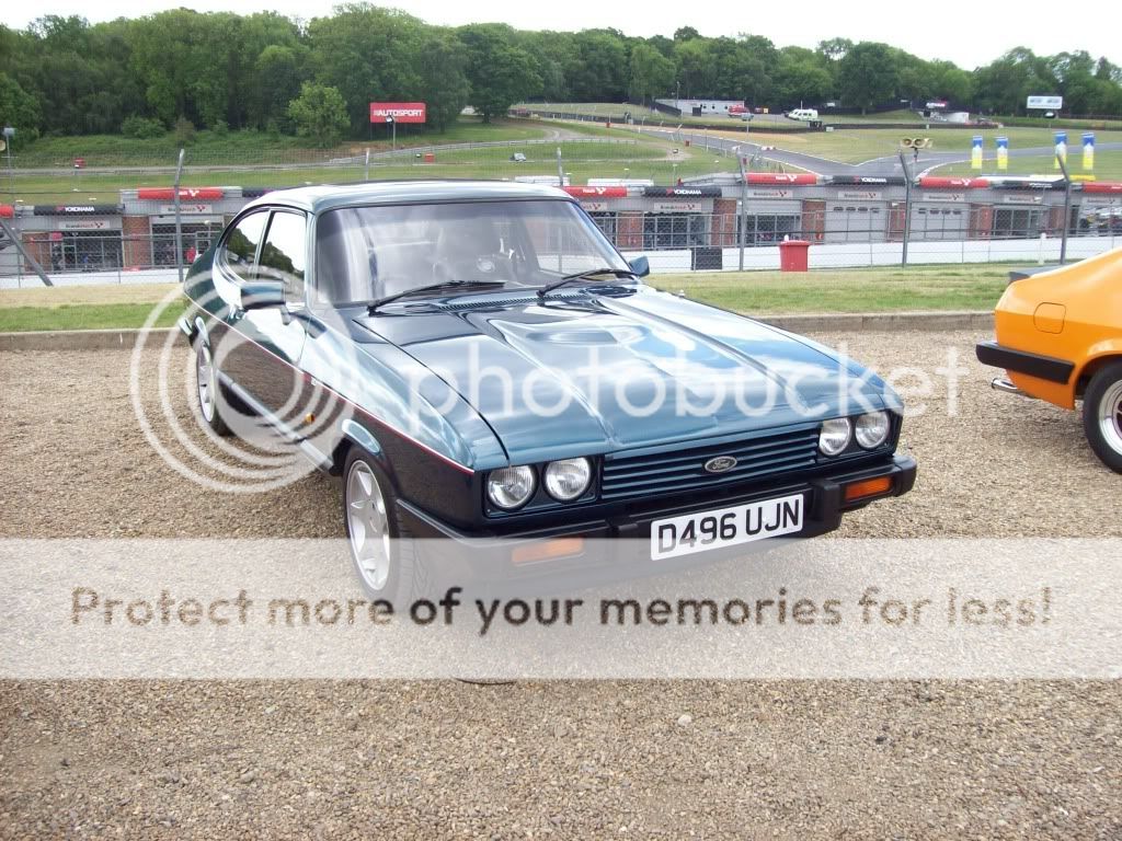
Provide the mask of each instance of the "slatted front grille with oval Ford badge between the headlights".
{"label": "slatted front grille with oval Ford badge between the headlights", "polygon": [[[718,455],[732,455],[736,459],[736,466],[725,473],[706,472],[705,463]],[[816,465],[817,458],[817,426],[663,453],[610,453],[604,456],[600,497],[611,500],[719,488],[778,473],[810,470]]]}

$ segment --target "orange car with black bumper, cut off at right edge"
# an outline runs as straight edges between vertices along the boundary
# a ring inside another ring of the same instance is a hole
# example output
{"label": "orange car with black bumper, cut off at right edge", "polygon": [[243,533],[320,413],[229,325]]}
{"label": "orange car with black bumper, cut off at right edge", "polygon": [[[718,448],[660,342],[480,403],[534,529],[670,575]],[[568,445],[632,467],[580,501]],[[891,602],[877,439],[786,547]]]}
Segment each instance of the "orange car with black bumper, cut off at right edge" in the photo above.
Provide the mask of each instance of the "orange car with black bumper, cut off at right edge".
{"label": "orange car with black bumper, cut off at right edge", "polygon": [[1082,398],[1091,449],[1122,473],[1122,248],[1011,280],[994,327],[977,345],[1005,369],[993,387],[1067,409]]}

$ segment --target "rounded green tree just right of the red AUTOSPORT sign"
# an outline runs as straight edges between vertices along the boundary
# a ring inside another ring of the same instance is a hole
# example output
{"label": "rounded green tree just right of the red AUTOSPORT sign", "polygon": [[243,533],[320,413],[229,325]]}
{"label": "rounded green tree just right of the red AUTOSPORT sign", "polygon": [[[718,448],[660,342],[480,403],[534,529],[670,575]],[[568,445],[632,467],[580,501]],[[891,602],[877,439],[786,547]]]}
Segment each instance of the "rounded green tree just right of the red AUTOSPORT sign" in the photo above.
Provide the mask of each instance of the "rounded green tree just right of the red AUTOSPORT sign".
{"label": "rounded green tree just right of the red AUTOSPORT sign", "polygon": [[469,102],[490,122],[542,83],[530,54],[512,44],[513,30],[503,24],[470,24],[459,30],[468,48]]}

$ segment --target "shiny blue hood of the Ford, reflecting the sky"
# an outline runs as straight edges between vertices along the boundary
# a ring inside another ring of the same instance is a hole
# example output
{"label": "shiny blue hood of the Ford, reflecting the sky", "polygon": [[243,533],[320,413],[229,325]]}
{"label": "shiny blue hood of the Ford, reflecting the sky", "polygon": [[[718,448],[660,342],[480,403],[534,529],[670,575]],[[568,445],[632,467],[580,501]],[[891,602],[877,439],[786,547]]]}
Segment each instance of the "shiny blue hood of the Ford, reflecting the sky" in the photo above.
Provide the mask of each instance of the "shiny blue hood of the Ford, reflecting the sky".
{"label": "shiny blue hood of the Ford, reflecting the sky", "polygon": [[444,380],[513,463],[899,406],[880,378],[813,342],[646,287],[471,296],[357,323]]}

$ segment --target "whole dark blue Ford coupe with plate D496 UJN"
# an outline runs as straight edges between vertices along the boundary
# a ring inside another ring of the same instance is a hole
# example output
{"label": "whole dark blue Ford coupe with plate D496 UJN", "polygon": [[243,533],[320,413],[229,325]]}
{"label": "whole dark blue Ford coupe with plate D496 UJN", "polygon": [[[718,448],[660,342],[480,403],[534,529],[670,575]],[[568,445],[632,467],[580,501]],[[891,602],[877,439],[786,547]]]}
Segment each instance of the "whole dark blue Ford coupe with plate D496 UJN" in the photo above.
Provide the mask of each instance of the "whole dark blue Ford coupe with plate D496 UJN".
{"label": "whole dark blue Ford coupe with plate D496 UJN", "polygon": [[406,537],[499,546],[479,577],[581,569],[595,538],[635,538],[660,572],[911,489],[879,377],[647,271],[555,187],[302,187],[250,202],[196,260],[180,326],[205,423],[228,433],[247,406],[342,477],[379,598],[440,576]]}

